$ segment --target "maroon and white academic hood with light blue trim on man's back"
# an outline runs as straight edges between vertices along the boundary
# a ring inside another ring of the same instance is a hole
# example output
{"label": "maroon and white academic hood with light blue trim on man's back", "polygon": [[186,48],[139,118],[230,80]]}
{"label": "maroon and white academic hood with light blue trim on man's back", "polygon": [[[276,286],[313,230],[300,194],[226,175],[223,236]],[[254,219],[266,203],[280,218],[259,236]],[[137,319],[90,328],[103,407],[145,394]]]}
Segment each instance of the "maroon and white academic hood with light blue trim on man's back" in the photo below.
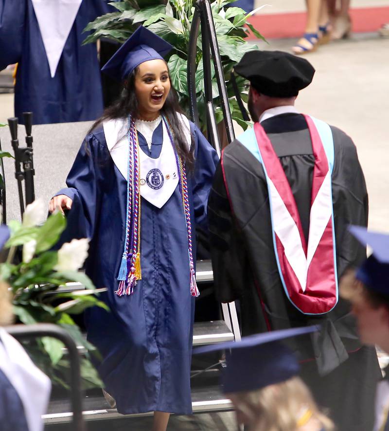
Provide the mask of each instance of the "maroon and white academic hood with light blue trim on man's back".
{"label": "maroon and white academic hood with light blue trim on man's back", "polygon": [[338,301],[331,175],[334,142],[330,126],[305,116],[315,167],[308,244],[279,158],[259,123],[240,142],[261,162],[269,193],[273,243],[284,291],[304,314],[324,314]]}

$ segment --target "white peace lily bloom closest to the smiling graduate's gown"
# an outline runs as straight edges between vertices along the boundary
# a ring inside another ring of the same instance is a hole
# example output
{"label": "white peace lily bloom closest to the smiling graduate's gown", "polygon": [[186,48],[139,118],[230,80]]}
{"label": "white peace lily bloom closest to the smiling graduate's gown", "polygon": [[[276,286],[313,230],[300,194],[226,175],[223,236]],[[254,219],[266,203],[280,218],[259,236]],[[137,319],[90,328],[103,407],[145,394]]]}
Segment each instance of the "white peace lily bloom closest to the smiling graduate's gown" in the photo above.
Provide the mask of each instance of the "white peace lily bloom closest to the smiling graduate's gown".
{"label": "white peace lily bloom closest to the smiling graduate's gown", "polygon": [[88,238],[73,239],[65,243],[58,250],[58,262],[54,269],[57,271],[77,271],[83,266],[88,256]]}

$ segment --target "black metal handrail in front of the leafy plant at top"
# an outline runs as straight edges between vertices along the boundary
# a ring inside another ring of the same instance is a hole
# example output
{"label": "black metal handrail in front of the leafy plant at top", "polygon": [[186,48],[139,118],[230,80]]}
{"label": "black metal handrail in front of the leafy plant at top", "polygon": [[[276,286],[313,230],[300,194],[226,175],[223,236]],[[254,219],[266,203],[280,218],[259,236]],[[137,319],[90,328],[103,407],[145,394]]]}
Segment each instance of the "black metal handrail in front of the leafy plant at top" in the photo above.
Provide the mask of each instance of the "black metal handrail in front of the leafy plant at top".
{"label": "black metal handrail in front of the leafy plant at top", "polygon": [[[232,142],[235,139],[230,106],[228,103],[227,88],[224,81],[223,66],[220,58],[219,47],[217,45],[215,25],[212,18],[211,4],[209,0],[197,0],[195,3],[195,14],[192,20],[191,33],[189,37],[189,56],[188,56],[188,89],[190,101],[191,119],[197,125],[197,99],[196,99],[196,45],[198,38],[198,30],[201,21],[201,42],[203,54],[203,69],[204,69],[204,93],[207,107],[207,130],[208,140],[216,149],[217,153],[221,154],[221,145],[219,134],[217,131],[216,117],[213,108],[212,99],[212,76],[211,76],[211,53],[213,64],[215,67],[217,87],[221,99],[221,107],[223,110],[224,124],[227,132],[227,139]],[[211,48],[211,49],[210,49]]]}

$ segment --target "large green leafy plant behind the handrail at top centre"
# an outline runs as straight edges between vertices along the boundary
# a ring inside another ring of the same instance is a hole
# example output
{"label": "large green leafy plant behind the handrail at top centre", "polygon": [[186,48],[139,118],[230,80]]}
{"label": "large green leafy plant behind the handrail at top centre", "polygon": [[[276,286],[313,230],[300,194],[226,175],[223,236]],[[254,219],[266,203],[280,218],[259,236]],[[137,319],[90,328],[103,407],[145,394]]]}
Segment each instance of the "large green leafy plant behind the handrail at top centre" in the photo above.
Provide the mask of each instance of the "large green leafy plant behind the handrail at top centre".
{"label": "large green leafy plant behind the handrail at top centre", "polygon": [[[216,0],[211,4],[212,15],[215,23],[216,36],[224,70],[225,82],[229,96],[230,111],[235,120],[244,129],[248,123],[243,120],[238,107],[232,85],[230,73],[233,66],[246,52],[258,49],[246,39],[251,31],[258,38],[264,37],[248,22],[248,18],[256,12],[256,9],[246,13],[239,7],[227,7],[233,0]],[[144,25],[158,36],[162,37],[174,47],[169,58],[168,65],[174,87],[178,92],[180,105],[189,112],[189,98],[187,85],[187,60],[188,43],[191,22],[195,12],[193,0],[168,0],[161,4],[158,0],[124,0],[112,2],[118,12],[106,14],[89,23],[85,31],[92,31],[84,41],[84,44],[95,42],[100,37],[107,37],[118,42],[124,42],[139,25]],[[201,40],[201,39],[199,39]],[[197,44],[196,54],[196,94],[200,127],[205,125],[205,102],[201,42]],[[214,70],[212,68],[212,92],[216,121],[223,119],[220,108],[220,97],[217,89]],[[237,77],[237,86],[243,101],[247,102],[246,81]]]}

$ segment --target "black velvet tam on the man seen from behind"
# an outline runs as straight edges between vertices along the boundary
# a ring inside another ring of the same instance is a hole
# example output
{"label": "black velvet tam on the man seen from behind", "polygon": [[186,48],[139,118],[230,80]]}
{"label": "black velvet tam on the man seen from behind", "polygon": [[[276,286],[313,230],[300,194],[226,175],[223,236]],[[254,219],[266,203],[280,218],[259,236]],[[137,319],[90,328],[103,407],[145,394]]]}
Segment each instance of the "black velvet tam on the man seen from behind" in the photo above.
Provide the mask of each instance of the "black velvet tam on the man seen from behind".
{"label": "black velvet tam on the man seen from behind", "polygon": [[258,92],[271,97],[297,96],[311,82],[315,69],[305,60],[283,51],[249,51],[234,71]]}

